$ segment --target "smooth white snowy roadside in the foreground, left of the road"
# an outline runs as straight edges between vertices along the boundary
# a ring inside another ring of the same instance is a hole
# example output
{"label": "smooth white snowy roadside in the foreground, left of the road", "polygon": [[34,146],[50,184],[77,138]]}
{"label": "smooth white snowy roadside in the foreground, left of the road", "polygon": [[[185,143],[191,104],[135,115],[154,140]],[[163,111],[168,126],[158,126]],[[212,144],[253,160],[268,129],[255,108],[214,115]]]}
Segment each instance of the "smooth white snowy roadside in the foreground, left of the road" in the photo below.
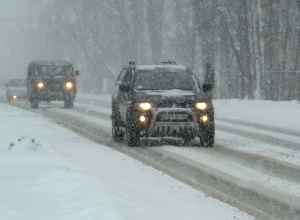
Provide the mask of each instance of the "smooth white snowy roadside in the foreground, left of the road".
{"label": "smooth white snowy roadside in the foreground, left of the road", "polygon": [[41,115],[0,118],[1,219],[253,219]]}

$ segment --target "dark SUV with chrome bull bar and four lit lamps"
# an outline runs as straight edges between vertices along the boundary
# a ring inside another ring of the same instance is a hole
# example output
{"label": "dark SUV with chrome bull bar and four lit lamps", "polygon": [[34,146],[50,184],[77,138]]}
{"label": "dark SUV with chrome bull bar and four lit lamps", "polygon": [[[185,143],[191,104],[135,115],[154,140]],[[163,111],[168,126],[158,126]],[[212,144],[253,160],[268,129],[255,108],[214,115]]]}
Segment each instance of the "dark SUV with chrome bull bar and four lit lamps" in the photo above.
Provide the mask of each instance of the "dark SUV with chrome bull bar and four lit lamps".
{"label": "dark SUV with chrome bull bar and four lit lamps", "polygon": [[212,147],[212,89],[213,84],[200,87],[192,71],[175,62],[137,66],[130,62],[112,95],[113,139],[137,146],[141,137],[180,137],[187,143],[200,137],[201,146]]}

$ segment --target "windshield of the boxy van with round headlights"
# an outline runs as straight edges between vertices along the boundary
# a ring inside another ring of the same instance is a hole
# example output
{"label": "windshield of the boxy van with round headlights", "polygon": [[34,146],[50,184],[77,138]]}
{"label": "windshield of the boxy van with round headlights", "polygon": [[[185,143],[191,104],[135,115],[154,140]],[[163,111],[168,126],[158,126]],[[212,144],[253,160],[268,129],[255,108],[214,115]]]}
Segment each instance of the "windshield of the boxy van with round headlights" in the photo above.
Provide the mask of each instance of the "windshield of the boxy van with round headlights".
{"label": "windshield of the boxy van with round headlights", "polygon": [[34,71],[34,76],[74,76],[74,73],[71,66],[37,66]]}

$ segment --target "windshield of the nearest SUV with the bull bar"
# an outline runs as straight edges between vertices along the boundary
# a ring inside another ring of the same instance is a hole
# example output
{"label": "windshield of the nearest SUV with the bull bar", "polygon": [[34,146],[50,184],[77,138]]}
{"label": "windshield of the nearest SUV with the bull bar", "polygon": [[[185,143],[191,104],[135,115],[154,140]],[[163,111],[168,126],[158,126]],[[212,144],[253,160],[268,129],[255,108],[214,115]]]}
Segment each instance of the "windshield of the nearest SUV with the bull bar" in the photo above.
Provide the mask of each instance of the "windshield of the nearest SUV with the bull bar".
{"label": "windshield of the nearest SUV with the bull bar", "polygon": [[145,70],[138,72],[135,81],[137,90],[198,90],[196,78],[190,72],[180,70]]}

